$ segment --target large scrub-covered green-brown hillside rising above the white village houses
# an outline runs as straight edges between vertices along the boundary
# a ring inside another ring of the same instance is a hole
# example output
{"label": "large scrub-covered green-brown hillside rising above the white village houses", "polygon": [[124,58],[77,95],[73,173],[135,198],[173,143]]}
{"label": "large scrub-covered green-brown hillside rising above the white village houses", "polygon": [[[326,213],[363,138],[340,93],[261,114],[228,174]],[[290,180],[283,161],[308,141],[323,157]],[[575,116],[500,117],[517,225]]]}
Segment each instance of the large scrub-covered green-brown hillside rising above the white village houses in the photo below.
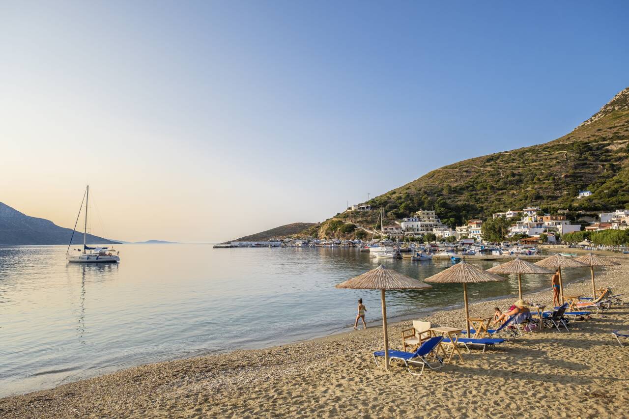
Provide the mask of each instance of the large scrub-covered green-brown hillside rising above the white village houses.
{"label": "large scrub-covered green-brown hillside rising above the white village houses", "polygon": [[[564,137],[444,166],[369,204],[376,209],[384,206],[389,220],[420,208],[434,209],[450,226],[531,204],[549,213],[625,208],[628,155],[629,87]],[[593,196],[576,199],[580,189]],[[373,226],[377,213],[346,211],[335,218]]]}

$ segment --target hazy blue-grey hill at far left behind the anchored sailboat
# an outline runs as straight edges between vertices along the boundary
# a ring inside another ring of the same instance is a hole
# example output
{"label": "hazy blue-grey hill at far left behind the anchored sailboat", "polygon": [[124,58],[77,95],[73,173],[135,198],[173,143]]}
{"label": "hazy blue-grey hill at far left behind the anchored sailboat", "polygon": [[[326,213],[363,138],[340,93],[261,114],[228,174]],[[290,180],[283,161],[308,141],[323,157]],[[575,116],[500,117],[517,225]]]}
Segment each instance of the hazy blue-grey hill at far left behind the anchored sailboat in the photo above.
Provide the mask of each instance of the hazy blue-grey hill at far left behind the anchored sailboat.
{"label": "hazy blue-grey hill at far left behind the anchored sailboat", "polygon": [[[72,229],[55,225],[52,221],[25,215],[0,202],[0,244],[53,245],[68,244]],[[83,243],[82,232],[74,233],[72,244]],[[87,235],[87,243],[118,244],[107,238]]]}

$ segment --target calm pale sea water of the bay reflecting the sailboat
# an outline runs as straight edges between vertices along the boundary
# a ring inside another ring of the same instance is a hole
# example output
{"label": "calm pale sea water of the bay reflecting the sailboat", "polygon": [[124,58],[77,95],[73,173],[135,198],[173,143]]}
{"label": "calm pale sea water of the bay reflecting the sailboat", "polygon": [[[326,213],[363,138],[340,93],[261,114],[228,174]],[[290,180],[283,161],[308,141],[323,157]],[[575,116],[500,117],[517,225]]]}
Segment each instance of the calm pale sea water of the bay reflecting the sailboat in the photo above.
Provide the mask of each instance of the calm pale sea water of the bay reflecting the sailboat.
{"label": "calm pale sea water of the bay reflecting the sailboat", "polygon": [[[348,330],[380,293],[335,289],[379,263],[423,279],[449,260],[378,260],[358,249],[212,249],[120,245],[120,264],[68,264],[65,246],[0,249],[0,396],[129,366],[260,348]],[[497,262],[483,262],[489,268]],[[567,280],[582,276],[566,269]],[[547,276],[524,279],[547,286]],[[509,281],[469,287],[470,301],[517,293]],[[460,306],[462,287],[387,291],[389,318]]]}

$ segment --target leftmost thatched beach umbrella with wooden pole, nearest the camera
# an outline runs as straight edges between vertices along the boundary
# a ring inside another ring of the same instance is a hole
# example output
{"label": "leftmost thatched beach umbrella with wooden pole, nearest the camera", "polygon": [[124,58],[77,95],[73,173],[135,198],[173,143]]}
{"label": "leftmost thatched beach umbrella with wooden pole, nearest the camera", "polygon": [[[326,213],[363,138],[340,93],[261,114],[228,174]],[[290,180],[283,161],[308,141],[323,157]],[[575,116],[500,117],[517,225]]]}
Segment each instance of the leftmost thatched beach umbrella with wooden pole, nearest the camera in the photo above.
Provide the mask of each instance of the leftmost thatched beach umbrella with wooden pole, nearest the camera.
{"label": "leftmost thatched beach umbrella with wooden pole, nearest the camera", "polygon": [[379,265],[376,269],[337,284],[336,288],[379,289],[382,299],[382,331],[384,332],[384,367],[389,369],[389,334],[387,333],[387,304],[385,289],[429,289],[432,286]]}

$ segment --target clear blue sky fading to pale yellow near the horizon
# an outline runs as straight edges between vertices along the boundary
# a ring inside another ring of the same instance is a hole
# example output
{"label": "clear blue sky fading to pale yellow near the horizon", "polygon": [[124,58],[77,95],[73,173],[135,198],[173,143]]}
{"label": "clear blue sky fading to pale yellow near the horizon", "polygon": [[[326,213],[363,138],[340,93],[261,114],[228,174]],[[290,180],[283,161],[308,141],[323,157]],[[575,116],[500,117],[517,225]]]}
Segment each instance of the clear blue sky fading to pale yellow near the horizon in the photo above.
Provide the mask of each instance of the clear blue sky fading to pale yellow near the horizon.
{"label": "clear blue sky fading to pale yellow near the horizon", "polygon": [[571,131],[629,86],[626,1],[0,0],[0,202],[120,240],[323,221]]}

